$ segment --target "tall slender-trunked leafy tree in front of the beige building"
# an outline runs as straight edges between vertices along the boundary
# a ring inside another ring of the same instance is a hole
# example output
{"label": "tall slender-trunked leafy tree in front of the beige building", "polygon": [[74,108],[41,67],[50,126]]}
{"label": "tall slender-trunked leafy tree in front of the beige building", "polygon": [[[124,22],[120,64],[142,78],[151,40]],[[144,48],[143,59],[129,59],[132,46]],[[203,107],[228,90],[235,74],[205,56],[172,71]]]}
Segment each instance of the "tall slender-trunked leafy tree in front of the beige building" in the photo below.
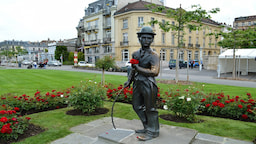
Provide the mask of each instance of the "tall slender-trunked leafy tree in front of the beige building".
{"label": "tall slender-trunked leafy tree in front of the beige building", "polygon": [[149,9],[152,10],[152,12],[161,12],[166,13],[167,18],[173,18],[175,21],[177,21],[177,24],[167,22],[162,22],[158,20],[152,20],[150,24],[158,24],[159,27],[165,31],[169,32],[170,30],[177,31],[178,32],[178,46],[177,46],[177,52],[176,52],[176,76],[175,80],[176,83],[178,83],[178,65],[179,65],[179,49],[183,45],[183,38],[185,35],[184,29],[188,28],[191,31],[195,31],[197,29],[200,29],[202,26],[201,21],[203,19],[210,19],[211,16],[208,13],[217,13],[219,11],[219,8],[214,8],[210,11],[203,10],[200,5],[192,5],[191,11],[186,11],[181,8],[181,6],[177,9],[171,9],[167,8],[165,6],[159,6],[156,4],[150,4],[147,5]]}

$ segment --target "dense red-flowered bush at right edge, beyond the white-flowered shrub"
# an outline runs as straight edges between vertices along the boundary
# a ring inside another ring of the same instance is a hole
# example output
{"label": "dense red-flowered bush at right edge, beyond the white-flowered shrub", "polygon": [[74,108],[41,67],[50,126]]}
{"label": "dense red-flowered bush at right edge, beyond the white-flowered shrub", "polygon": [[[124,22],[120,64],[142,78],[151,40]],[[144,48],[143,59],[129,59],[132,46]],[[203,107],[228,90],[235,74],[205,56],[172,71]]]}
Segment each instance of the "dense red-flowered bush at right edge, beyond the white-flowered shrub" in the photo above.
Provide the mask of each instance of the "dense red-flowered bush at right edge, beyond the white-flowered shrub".
{"label": "dense red-flowered bush at right edge, beyond the white-flowered shrub", "polygon": [[221,93],[210,93],[201,100],[199,113],[244,121],[256,121],[256,99],[247,93],[247,99]]}

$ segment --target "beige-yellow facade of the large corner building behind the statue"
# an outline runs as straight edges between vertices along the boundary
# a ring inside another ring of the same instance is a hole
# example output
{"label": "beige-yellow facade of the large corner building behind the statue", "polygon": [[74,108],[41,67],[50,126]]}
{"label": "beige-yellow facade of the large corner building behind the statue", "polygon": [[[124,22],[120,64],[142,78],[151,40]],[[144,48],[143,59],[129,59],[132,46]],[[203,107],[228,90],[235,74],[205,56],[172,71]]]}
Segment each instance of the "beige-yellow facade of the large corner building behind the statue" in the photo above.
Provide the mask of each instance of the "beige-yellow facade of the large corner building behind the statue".
{"label": "beige-yellow facade of the large corner building behind the statue", "polygon": [[[115,58],[119,65],[129,61],[132,53],[140,48],[136,33],[142,26],[150,26],[148,22],[151,20],[177,24],[174,19],[167,18],[164,13],[152,13],[145,8],[147,4],[150,3],[145,1],[129,3],[115,13]],[[220,31],[220,24],[210,19],[203,20],[202,24],[203,27],[197,31],[185,29],[184,45],[178,53],[180,60],[200,60],[204,56],[220,54],[220,47],[217,45],[220,39],[207,36],[209,33]],[[164,32],[158,25],[151,25],[151,27],[157,34],[151,48],[160,54],[165,64],[170,59],[176,59],[177,31]]]}

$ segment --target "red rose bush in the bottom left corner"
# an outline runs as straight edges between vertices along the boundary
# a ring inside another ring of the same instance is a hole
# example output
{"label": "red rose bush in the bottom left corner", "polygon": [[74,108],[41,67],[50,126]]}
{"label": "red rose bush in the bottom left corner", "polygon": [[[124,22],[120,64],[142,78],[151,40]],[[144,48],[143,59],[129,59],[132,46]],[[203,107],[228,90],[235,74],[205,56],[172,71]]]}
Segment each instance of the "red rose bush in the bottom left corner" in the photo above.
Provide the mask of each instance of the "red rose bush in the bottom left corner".
{"label": "red rose bush in the bottom left corner", "polygon": [[0,106],[0,138],[3,141],[17,139],[20,134],[27,130],[29,117],[18,115],[19,108],[7,110],[7,105]]}

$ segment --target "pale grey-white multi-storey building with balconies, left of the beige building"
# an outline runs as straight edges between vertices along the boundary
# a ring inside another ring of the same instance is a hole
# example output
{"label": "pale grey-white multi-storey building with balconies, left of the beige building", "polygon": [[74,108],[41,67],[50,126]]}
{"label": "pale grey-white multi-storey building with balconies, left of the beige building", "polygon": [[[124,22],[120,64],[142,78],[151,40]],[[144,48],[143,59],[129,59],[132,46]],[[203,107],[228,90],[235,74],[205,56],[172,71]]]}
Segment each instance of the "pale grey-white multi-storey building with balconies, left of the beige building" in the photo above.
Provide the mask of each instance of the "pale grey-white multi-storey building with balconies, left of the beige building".
{"label": "pale grey-white multi-storey building with balconies, left of the beige building", "polygon": [[[114,13],[130,2],[139,0],[98,0],[88,5],[85,16],[79,21],[76,45],[83,51],[85,61],[95,63],[105,55],[116,57]],[[163,5],[163,0],[146,0]],[[120,32],[120,31],[119,31]]]}

